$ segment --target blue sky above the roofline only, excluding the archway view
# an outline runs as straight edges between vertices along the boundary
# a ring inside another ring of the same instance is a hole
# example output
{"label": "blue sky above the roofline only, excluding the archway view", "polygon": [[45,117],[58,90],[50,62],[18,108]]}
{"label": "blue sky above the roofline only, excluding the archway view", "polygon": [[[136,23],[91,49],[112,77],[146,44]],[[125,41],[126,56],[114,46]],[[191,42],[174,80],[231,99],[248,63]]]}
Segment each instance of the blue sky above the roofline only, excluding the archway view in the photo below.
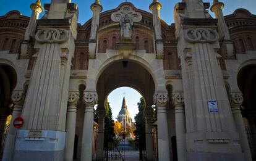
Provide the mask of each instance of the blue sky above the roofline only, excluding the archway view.
{"label": "blue sky above the roofline only, excluding the archway view", "polygon": [[[23,15],[30,16],[30,4],[36,0],[0,0],[0,15],[4,15],[10,10],[19,10]],[[95,0],[72,0],[79,6],[79,23],[85,23],[92,17],[92,11],[90,5]],[[148,6],[150,6],[152,0],[127,0],[132,2],[138,9],[146,10],[150,12]],[[181,0],[158,0],[162,4],[161,19],[163,19],[168,25],[174,23],[173,9],[177,2]],[[204,0],[203,2],[210,2],[213,0]],[[248,9],[252,14],[256,14],[256,0],[219,0],[224,2],[225,7],[223,9],[224,15],[232,14],[237,8]],[[49,3],[50,0],[41,0],[42,4]],[[121,2],[125,0],[100,0],[103,6],[103,12],[109,9],[115,9]],[[210,12],[211,13],[211,12]],[[41,14],[40,16],[42,16]],[[211,13],[214,17],[214,14]]]}

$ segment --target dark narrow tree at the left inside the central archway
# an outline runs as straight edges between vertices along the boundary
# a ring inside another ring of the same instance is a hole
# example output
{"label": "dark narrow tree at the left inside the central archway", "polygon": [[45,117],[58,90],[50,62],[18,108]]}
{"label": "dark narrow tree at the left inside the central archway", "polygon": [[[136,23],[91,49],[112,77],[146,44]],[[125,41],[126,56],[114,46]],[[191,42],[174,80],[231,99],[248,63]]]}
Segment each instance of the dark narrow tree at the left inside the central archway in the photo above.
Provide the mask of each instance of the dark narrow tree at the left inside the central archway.
{"label": "dark narrow tree at the left inside the central archway", "polygon": [[109,105],[108,99],[105,102],[106,117],[104,126],[104,147],[108,147],[108,142],[113,141],[114,138],[114,120],[112,116],[112,109]]}

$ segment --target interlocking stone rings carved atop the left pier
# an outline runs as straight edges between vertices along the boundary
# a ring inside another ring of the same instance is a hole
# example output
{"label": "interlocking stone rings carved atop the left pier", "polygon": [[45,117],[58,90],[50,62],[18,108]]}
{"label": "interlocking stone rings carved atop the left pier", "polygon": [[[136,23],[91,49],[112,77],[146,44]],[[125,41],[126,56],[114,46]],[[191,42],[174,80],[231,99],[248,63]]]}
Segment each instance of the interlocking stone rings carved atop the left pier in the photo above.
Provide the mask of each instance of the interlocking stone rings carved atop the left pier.
{"label": "interlocking stone rings carved atop the left pier", "polygon": [[69,38],[69,31],[65,29],[40,30],[35,39],[38,43],[64,43]]}

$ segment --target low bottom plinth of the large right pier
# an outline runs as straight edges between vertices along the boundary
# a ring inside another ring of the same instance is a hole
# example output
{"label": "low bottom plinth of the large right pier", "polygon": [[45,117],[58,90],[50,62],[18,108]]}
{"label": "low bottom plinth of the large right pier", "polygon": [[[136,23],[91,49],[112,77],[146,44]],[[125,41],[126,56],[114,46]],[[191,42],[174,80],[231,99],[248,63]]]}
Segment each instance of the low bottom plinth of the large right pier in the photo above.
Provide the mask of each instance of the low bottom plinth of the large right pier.
{"label": "low bottom plinth of the large right pier", "polygon": [[244,154],[187,152],[187,161],[244,161]]}

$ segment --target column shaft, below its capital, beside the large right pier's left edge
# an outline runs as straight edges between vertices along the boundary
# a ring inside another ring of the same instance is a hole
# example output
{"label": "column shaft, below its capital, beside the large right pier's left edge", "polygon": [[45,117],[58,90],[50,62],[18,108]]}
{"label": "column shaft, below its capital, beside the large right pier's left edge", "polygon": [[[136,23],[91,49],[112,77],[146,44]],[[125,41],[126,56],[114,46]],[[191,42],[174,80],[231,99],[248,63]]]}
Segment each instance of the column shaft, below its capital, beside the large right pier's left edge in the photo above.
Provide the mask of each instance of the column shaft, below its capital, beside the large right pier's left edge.
{"label": "column shaft, below its capital, beside the large right pier's left edge", "polygon": [[176,105],[175,107],[175,128],[177,142],[177,158],[179,161],[186,161],[186,121],[184,107],[182,105]]}

